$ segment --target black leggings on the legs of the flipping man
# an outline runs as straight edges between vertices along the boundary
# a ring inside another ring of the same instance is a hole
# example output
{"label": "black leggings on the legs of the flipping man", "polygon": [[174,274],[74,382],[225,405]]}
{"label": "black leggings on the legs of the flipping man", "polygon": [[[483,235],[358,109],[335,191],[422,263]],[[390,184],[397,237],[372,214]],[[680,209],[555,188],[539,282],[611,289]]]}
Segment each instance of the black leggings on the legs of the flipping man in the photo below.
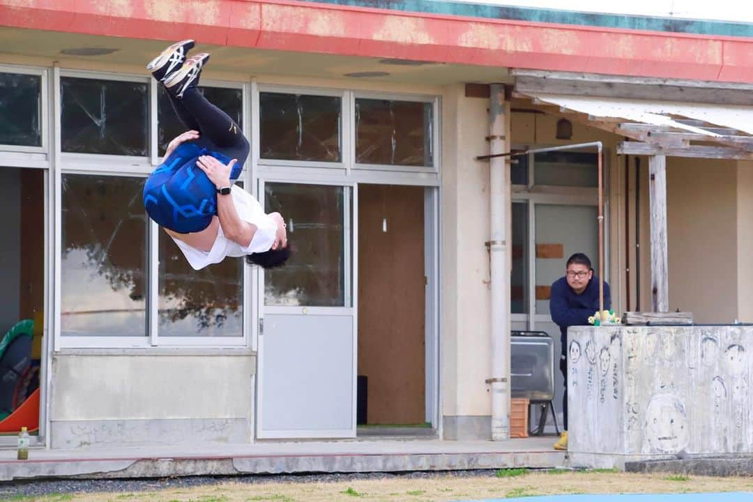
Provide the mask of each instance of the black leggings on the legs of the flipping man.
{"label": "black leggings on the legs of the flipping man", "polygon": [[251,146],[230,115],[209,102],[196,87],[189,87],[178,99],[167,93],[172,109],[187,129],[199,131],[197,145],[210,151],[237,159],[236,166],[245,163]]}

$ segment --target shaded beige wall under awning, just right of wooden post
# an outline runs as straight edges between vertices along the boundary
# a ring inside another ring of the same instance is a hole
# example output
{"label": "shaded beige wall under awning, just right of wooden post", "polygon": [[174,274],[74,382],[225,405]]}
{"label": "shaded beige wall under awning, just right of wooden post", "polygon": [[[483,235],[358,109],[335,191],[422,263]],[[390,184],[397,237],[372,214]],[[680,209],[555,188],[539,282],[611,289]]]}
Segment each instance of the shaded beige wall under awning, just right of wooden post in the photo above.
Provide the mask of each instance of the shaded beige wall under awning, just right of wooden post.
{"label": "shaded beige wall under awning, just right of wooden post", "polygon": [[737,317],[737,170],[734,161],[667,159],[669,309],[697,322]]}

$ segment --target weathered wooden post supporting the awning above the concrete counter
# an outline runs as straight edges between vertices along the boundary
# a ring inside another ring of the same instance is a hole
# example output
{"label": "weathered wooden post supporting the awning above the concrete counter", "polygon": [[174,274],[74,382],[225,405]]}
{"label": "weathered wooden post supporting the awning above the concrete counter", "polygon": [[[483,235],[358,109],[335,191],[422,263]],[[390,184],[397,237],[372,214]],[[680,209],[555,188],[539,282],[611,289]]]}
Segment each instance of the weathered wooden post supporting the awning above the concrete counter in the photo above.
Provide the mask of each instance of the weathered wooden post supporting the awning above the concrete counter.
{"label": "weathered wooden post supporting the awning above the concrete counter", "polygon": [[651,307],[654,312],[669,311],[669,283],[666,258],[666,157],[648,158],[651,204]]}

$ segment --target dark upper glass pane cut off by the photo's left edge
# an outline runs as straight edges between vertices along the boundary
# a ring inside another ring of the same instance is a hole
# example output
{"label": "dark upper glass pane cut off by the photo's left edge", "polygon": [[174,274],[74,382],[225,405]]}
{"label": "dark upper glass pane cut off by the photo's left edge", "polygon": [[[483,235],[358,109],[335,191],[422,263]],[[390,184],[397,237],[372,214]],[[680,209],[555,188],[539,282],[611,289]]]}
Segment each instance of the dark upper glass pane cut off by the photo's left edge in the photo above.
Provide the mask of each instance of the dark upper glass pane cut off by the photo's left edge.
{"label": "dark upper glass pane cut off by the photo's left edge", "polygon": [[0,144],[41,146],[40,123],[41,77],[0,73]]}

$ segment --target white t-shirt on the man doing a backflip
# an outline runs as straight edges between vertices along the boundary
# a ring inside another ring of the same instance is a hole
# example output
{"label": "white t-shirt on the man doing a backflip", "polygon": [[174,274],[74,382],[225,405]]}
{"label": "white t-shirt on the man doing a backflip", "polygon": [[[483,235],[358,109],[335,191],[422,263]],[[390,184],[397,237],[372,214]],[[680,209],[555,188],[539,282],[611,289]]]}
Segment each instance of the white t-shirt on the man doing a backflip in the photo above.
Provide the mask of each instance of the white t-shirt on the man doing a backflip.
{"label": "white t-shirt on the man doing a backflip", "polygon": [[257,229],[256,233],[254,233],[254,237],[248,246],[244,248],[237,242],[227,239],[222,232],[222,225],[220,225],[217,231],[217,239],[209,252],[193,248],[180,239],[173,237],[172,240],[175,241],[178,248],[181,248],[186,260],[188,260],[188,263],[191,263],[194,270],[203,269],[207,265],[212,265],[212,263],[220,263],[228,256],[241,257],[246,254],[269,251],[275,242],[277,225],[272,218],[264,214],[259,201],[251,193],[236,186],[233,186],[232,190],[230,190],[230,196],[233,197],[233,204],[236,206],[240,219],[255,225]]}

